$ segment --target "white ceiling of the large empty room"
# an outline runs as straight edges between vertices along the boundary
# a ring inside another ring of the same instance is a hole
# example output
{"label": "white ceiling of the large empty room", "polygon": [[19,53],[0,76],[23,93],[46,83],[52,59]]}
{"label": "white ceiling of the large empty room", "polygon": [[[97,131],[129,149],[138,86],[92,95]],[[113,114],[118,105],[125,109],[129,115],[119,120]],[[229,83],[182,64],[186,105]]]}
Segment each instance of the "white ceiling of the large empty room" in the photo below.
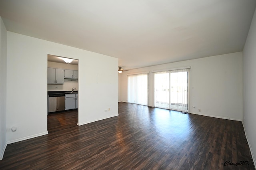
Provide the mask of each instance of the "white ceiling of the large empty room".
{"label": "white ceiling of the large empty room", "polygon": [[119,59],[123,69],[242,51],[255,0],[0,0],[11,32]]}

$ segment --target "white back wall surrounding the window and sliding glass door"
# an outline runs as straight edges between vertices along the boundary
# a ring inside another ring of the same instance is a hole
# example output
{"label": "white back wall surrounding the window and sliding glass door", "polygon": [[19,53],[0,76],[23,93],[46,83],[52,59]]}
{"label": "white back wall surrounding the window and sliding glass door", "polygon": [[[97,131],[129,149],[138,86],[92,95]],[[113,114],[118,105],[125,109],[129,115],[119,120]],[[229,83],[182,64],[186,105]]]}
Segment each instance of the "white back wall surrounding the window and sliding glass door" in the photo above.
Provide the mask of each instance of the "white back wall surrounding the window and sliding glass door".
{"label": "white back wall surrounding the window and sliding glass door", "polygon": [[[185,66],[191,67],[190,113],[242,121],[242,52],[124,71],[119,75],[119,101],[127,102],[127,73]],[[154,106],[153,73],[149,77],[149,105]]]}

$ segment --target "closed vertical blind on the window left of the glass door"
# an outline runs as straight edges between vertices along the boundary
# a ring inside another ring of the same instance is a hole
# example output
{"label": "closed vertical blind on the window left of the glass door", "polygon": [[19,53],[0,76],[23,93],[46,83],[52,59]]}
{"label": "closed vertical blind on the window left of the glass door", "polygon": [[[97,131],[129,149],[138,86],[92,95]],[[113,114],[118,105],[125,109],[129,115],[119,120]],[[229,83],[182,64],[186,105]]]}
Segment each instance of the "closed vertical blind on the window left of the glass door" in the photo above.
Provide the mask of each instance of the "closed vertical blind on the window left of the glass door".
{"label": "closed vertical blind on the window left of the glass door", "polygon": [[128,103],[148,105],[148,73],[128,75]]}

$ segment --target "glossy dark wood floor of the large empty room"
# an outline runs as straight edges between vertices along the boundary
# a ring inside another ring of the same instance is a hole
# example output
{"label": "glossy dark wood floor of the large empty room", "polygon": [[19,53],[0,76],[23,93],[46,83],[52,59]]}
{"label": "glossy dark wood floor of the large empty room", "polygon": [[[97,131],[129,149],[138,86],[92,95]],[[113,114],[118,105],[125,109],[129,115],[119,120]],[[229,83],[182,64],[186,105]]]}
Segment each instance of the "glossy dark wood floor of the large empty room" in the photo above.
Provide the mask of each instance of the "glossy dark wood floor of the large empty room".
{"label": "glossy dark wood floor of the large empty room", "polygon": [[[248,162],[231,165],[240,161]],[[254,165],[241,122],[119,103],[118,117],[8,144],[0,169],[254,170]]]}

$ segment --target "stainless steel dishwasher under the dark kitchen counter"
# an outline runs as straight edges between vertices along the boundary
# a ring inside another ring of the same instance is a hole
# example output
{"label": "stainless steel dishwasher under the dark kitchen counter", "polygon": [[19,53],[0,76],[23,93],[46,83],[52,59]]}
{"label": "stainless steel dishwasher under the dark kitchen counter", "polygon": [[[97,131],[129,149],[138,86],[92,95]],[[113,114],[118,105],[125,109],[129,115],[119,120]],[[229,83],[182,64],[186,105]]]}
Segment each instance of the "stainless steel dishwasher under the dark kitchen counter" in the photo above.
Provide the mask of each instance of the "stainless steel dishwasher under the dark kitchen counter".
{"label": "stainless steel dishwasher under the dark kitchen counter", "polygon": [[49,112],[65,110],[65,94],[49,94]]}

